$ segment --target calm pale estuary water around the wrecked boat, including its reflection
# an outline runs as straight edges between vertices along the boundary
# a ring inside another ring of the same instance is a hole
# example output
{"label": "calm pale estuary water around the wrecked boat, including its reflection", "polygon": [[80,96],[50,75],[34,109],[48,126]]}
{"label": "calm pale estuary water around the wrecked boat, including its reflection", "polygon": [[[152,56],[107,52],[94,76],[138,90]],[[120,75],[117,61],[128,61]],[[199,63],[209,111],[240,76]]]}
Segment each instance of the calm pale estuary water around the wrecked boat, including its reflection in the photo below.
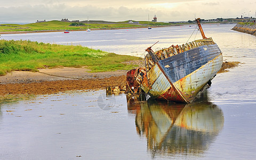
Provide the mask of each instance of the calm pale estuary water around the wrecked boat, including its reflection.
{"label": "calm pale estuary water around the wrecked boat, including its reflection", "polygon": [[[224,61],[241,64],[218,74],[210,89],[188,105],[138,103],[125,94],[106,97],[105,91],[0,103],[0,159],[255,159],[256,37],[230,30],[233,26],[203,25]],[[83,45],[142,57],[157,41],[154,50],[186,43],[193,31],[194,27],[179,26],[1,38]]]}

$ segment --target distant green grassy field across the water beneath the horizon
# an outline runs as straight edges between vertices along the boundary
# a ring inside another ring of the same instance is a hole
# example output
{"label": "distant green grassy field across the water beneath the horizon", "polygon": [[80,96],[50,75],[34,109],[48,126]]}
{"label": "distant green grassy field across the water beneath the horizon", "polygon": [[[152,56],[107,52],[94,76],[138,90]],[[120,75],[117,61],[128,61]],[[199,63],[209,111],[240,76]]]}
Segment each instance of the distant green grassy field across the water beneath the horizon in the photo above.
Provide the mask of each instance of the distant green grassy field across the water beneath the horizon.
{"label": "distant green grassy field across the water beneath the horizon", "polygon": [[[147,21],[139,21],[139,24],[124,22],[102,22],[89,21],[90,29],[116,29],[116,28],[136,28],[147,27]],[[10,31],[50,31],[50,30],[85,30],[88,28],[87,23],[82,26],[70,26],[72,22],[63,21],[46,21],[40,23],[29,23],[26,25],[4,24],[0,25],[0,32]],[[149,26],[170,26],[170,23],[149,22]]]}

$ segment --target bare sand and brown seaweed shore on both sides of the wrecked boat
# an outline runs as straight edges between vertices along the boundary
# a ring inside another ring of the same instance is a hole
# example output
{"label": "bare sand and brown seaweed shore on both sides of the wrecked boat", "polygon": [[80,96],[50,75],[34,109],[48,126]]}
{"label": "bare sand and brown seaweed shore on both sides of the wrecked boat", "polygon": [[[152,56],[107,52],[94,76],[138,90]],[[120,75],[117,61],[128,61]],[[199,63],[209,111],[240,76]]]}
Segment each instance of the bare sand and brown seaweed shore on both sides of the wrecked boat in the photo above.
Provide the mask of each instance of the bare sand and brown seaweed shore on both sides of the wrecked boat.
{"label": "bare sand and brown seaweed shore on both sides of the wrecked boat", "polygon": [[[219,73],[238,66],[223,62]],[[89,73],[86,68],[39,69],[39,72],[13,71],[0,76],[0,96],[9,94],[52,94],[71,90],[99,90],[107,86],[124,86],[127,70]]]}

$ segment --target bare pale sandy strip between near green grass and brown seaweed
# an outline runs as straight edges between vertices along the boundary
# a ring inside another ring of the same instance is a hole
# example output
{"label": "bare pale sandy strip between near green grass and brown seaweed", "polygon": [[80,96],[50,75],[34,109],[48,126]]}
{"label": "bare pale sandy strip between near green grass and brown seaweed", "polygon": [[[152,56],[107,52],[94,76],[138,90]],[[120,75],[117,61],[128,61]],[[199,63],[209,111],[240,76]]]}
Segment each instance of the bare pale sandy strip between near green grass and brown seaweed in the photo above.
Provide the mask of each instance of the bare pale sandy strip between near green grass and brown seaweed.
{"label": "bare pale sandy strip between near green grass and brown seaweed", "polygon": [[34,83],[45,81],[63,81],[63,80],[86,80],[86,79],[102,79],[111,76],[126,75],[126,70],[108,71],[103,73],[89,73],[86,68],[53,68],[38,69],[38,72],[31,71],[12,71],[5,76],[0,76],[0,84],[14,83]]}

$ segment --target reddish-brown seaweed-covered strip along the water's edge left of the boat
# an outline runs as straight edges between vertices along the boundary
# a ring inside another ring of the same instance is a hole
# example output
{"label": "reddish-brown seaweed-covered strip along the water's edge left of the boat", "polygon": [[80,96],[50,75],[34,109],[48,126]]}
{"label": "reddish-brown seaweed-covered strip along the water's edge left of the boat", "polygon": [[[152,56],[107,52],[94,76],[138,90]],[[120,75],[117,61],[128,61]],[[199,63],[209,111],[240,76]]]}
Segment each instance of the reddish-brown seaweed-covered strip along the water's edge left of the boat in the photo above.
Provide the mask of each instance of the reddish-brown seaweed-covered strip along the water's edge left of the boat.
{"label": "reddish-brown seaweed-covered strip along the water's edge left of the boat", "polygon": [[79,79],[65,81],[45,81],[33,83],[1,84],[0,96],[7,94],[53,94],[71,90],[99,90],[107,86],[123,86],[126,83],[126,76],[109,78]]}

